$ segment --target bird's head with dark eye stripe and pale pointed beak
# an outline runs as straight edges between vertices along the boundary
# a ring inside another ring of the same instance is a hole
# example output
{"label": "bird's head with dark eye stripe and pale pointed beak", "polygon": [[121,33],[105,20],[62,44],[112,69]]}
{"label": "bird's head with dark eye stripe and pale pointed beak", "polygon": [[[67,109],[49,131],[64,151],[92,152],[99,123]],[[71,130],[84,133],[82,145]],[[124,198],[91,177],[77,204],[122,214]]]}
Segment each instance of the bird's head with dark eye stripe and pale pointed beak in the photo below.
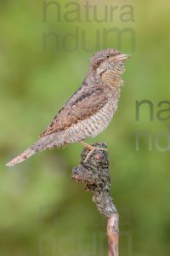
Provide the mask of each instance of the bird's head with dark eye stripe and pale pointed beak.
{"label": "bird's head with dark eye stripe and pale pointed beak", "polygon": [[125,66],[125,61],[130,55],[125,55],[116,49],[103,49],[91,58],[91,68],[94,70],[98,78],[110,78],[120,76]]}

